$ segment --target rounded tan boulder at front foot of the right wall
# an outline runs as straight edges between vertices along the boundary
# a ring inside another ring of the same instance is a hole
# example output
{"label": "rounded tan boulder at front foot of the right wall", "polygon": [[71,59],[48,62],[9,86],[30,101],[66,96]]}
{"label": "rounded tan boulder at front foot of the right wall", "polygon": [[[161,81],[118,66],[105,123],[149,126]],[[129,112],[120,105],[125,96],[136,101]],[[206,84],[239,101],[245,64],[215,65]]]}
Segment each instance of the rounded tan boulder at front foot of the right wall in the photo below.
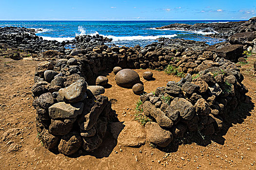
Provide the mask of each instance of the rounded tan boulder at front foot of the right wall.
{"label": "rounded tan boulder at front foot of the right wall", "polygon": [[147,122],[145,129],[147,141],[160,147],[168,146],[173,140],[172,133],[162,129],[156,122]]}

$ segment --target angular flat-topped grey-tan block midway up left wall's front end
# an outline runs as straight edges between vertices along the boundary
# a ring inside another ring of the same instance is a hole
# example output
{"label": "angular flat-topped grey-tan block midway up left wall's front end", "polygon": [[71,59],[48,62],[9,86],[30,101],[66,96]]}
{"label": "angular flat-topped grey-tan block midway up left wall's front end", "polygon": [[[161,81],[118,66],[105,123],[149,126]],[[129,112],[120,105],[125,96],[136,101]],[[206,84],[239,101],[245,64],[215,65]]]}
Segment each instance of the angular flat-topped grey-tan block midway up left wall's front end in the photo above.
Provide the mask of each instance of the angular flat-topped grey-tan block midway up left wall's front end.
{"label": "angular flat-topped grey-tan block midway up left wall's front end", "polygon": [[76,118],[82,113],[83,103],[65,103],[58,102],[49,107],[49,116],[51,119],[70,119]]}

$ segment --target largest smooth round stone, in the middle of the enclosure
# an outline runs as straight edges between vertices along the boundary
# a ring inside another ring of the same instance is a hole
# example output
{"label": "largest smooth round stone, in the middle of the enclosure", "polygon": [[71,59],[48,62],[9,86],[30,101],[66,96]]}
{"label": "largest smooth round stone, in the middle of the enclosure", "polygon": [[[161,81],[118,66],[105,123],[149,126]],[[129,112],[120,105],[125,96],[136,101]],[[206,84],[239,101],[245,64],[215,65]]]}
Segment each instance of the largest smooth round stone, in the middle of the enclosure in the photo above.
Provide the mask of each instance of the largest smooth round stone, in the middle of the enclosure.
{"label": "largest smooth round stone, in the middle of the enclosure", "polygon": [[116,83],[121,87],[132,88],[140,82],[139,75],[132,69],[122,69],[116,75]]}

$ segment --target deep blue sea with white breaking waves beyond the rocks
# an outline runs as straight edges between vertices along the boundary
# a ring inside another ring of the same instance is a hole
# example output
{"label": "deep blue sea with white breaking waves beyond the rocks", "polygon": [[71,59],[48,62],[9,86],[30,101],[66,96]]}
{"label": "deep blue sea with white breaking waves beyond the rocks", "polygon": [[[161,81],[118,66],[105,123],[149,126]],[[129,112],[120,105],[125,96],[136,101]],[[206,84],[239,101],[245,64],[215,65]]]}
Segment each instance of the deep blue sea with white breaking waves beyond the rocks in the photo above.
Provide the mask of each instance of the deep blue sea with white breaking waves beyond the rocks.
{"label": "deep blue sea with white breaking waves beyond the rocks", "polygon": [[0,21],[0,27],[14,26],[34,28],[36,34],[47,40],[71,40],[76,35],[100,34],[112,38],[112,43],[118,46],[145,46],[156,41],[159,37],[183,38],[196,41],[205,41],[207,44],[216,44],[222,39],[206,37],[203,32],[188,32],[179,30],[156,30],[156,27],[172,23],[211,23],[229,22],[237,20],[171,20],[171,21]]}

